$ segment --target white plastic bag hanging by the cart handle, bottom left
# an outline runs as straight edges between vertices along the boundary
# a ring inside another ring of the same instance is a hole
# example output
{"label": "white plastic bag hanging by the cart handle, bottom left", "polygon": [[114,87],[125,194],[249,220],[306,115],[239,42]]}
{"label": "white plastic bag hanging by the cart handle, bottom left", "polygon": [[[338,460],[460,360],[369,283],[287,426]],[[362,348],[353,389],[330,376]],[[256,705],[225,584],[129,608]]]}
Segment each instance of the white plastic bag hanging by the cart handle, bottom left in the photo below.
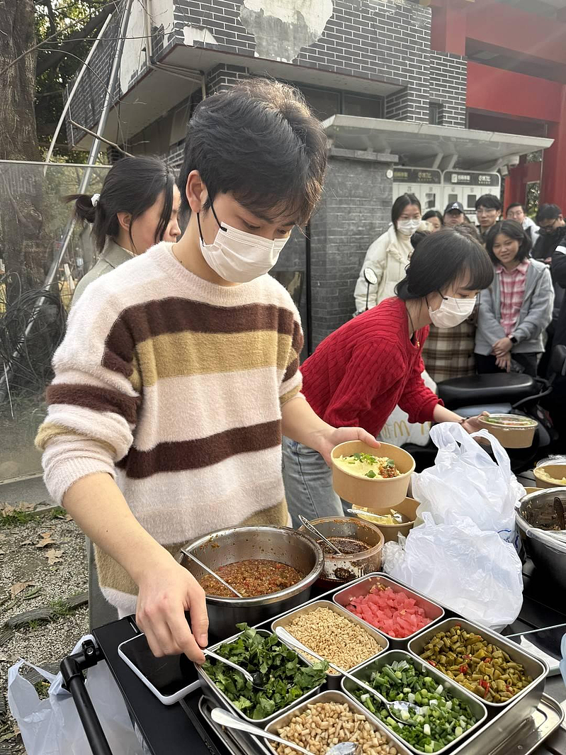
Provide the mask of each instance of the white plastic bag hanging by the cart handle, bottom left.
{"label": "white plastic bag hanging by the cart handle, bottom left", "polygon": [[[85,639],[94,642],[92,636],[85,636],[73,652],[81,649]],[[40,700],[35,687],[20,676],[23,665],[34,668],[51,682],[47,699]],[[8,670],[8,703],[20,727],[27,755],[92,755],[75,703],[62,684],[60,673],[54,676],[21,659]],[[86,686],[112,752],[140,755],[143,750],[134,734],[124,698],[106,663],[101,661],[88,670]]]}

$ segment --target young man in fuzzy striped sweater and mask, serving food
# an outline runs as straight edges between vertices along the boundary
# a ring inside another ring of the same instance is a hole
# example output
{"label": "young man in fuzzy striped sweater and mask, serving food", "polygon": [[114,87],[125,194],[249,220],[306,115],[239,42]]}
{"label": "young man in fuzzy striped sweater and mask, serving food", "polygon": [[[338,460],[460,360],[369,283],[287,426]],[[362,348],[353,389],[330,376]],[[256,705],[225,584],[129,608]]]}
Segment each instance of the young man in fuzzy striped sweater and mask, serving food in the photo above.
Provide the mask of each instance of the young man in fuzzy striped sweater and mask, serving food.
{"label": "young man in fuzzy striped sweater and mask, serving food", "polygon": [[[189,122],[186,233],[92,283],[54,357],[45,480],[97,544],[100,585],[155,655],[204,661],[205,593],[176,560],[199,535],[286,525],[281,435],[329,459],[300,395],[299,314],[266,273],[321,196],[326,137],[300,94],[258,80]],[[191,627],[185,618],[190,612]]]}

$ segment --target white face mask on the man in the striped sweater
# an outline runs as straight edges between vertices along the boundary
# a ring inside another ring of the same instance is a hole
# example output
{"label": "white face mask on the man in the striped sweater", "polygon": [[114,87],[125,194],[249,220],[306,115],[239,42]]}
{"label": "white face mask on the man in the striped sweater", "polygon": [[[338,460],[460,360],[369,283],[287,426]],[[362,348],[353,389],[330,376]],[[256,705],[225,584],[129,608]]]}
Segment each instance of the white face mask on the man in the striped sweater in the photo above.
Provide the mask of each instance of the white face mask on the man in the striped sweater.
{"label": "white face mask on the man in the striped sweater", "polygon": [[262,236],[255,236],[254,233],[232,228],[227,223],[220,223],[214,208],[211,209],[219,226],[216,238],[211,244],[205,244],[201,220],[199,214],[196,215],[202,256],[205,257],[208,267],[230,283],[248,283],[269,273],[289,237],[269,241]]}

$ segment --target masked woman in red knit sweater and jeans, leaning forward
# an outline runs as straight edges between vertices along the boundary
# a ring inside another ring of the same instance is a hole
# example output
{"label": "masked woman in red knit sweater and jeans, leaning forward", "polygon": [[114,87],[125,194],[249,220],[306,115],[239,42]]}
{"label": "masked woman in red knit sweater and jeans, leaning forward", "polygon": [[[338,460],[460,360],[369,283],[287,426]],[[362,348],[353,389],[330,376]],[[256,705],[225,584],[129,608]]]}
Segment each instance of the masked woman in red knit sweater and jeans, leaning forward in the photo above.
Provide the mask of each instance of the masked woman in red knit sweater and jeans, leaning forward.
{"label": "masked woman in red knit sweater and jeans, leaning forward", "polygon": [[[304,362],[303,396],[333,427],[363,427],[377,436],[396,405],[410,422],[460,422],[468,432],[477,418],[444,408],[423,383],[421,352],[429,325],[453,328],[475,307],[478,291],[493,280],[493,265],[480,243],[459,227],[423,239],[396,296],[349,320],[325,338]],[[294,526],[340,516],[332,473],[317,451],[283,439],[283,479]]]}

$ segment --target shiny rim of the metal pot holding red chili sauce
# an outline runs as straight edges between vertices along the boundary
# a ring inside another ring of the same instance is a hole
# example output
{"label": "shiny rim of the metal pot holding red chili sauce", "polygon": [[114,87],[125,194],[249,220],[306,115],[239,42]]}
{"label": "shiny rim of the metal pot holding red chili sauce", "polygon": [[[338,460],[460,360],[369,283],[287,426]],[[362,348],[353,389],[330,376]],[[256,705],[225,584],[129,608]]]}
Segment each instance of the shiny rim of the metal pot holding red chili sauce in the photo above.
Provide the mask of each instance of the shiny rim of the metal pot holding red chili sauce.
{"label": "shiny rim of the metal pot holding red chili sauce", "polygon": [[[287,535],[291,535],[292,537],[303,541],[312,549],[313,553],[315,554],[315,565],[312,567],[310,572],[303,577],[303,579],[301,579],[299,582],[296,582],[295,584],[291,584],[290,587],[285,587],[285,590],[278,590],[278,592],[276,593],[258,595],[253,598],[221,598],[213,595],[207,595],[207,602],[210,602],[211,604],[216,606],[231,606],[235,608],[238,608],[240,606],[246,608],[249,608],[251,606],[264,606],[266,602],[272,603],[278,602],[279,600],[285,600],[286,598],[291,598],[297,595],[297,593],[301,593],[303,590],[306,590],[307,587],[311,587],[312,584],[315,584],[315,581],[321,575],[322,569],[324,568],[325,554],[322,552],[322,548],[318,545],[317,542],[315,542],[313,538],[303,532],[298,532],[291,527],[273,527],[267,525],[263,527],[245,526],[218,529],[216,532],[211,532],[208,535],[203,535],[203,537],[187,543],[183,548],[181,548],[181,553],[185,553],[186,550],[189,550],[190,553],[194,553],[196,548],[201,547],[201,545],[207,544],[214,538],[226,537],[234,534],[235,532],[241,532],[245,534],[246,532],[257,533],[258,531],[271,533],[284,532]],[[194,555],[196,556],[197,553],[194,553]]]}

